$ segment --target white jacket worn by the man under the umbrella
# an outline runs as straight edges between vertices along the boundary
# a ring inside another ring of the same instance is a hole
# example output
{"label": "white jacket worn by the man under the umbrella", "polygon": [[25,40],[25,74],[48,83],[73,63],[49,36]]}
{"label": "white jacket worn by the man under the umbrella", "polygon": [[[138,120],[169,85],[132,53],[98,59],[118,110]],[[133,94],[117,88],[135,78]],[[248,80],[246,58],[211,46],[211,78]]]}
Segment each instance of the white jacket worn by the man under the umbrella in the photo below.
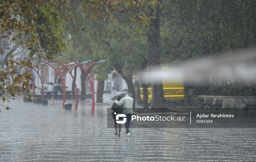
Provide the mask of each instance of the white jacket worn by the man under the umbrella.
{"label": "white jacket worn by the man under the umbrella", "polygon": [[128,94],[125,94],[120,101],[115,100],[117,105],[123,105],[123,113],[124,114],[132,114],[132,105],[133,105],[133,98],[129,97]]}

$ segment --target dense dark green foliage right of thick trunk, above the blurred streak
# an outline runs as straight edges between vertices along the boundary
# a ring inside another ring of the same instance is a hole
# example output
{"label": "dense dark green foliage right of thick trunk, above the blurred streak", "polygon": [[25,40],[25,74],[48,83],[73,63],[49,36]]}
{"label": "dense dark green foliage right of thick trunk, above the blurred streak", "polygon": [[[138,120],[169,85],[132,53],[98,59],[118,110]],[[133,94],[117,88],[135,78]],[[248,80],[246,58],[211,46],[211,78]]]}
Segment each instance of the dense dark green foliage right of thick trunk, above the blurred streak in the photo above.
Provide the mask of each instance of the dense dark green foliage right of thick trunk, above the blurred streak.
{"label": "dense dark green foliage right of thick trunk, above the blurred streak", "polygon": [[255,46],[255,6],[247,0],[165,1],[163,63]]}

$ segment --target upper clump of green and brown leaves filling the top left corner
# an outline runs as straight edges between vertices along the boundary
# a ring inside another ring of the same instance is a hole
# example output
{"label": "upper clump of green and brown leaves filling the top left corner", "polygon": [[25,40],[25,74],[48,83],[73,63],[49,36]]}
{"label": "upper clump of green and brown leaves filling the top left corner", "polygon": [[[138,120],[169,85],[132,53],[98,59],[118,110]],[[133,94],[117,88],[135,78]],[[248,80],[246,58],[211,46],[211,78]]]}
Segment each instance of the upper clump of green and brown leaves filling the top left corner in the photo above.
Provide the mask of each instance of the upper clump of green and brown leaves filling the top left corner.
{"label": "upper clump of green and brown leaves filling the top left corner", "polygon": [[[0,2],[0,32],[34,53],[52,58],[66,43],[61,25],[70,16],[65,13],[66,0],[3,0]],[[52,46],[54,44],[54,46]]]}

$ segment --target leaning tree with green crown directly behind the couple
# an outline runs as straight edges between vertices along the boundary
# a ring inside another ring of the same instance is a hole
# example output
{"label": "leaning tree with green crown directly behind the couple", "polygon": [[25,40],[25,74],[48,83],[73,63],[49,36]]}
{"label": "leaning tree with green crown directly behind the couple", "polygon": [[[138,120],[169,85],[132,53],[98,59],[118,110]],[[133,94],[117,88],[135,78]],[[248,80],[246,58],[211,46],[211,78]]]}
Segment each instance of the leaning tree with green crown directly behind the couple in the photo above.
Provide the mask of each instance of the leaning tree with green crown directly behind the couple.
{"label": "leaning tree with green crown directly behind the couple", "polygon": [[128,91],[134,94],[134,101],[136,101],[133,75],[141,70],[142,56],[147,52],[145,39],[138,35],[120,34],[113,26],[105,26],[105,29],[94,30],[91,33],[93,34],[91,38],[94,38],[95,42],[92,45],[93,53],[101,58],[105,55],[110,60],[108,65],[102,64],[102,66],[99,65],[100,68],[96,67],[97,74],[102,75],[103,72],[108,74],[114,67],[126,81]]}

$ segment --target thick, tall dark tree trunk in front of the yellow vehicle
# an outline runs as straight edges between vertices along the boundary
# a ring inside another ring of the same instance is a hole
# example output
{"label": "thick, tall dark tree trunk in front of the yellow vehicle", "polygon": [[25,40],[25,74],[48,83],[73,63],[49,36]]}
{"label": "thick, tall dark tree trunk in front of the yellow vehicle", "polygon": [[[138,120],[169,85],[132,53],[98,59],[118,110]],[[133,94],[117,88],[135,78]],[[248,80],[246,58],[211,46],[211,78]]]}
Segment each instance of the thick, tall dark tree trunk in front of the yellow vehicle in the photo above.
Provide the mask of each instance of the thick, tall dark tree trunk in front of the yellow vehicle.
{"label": "thick, tall dark tree trunk in front of the yellow vehicle", "polygon": [[[157,17],[151,19],[149,24],[150,31],[148,34],[148,62],[151,70],[155,70],[160,67],[160,15],[161,7],[160,4],[151,10],[151,15]],[[165,111],[167,110],[165,98],[163,94],[163,83],[162,78],[157,78],[157,82],[152,83],[152,109],[154,111]]]}

